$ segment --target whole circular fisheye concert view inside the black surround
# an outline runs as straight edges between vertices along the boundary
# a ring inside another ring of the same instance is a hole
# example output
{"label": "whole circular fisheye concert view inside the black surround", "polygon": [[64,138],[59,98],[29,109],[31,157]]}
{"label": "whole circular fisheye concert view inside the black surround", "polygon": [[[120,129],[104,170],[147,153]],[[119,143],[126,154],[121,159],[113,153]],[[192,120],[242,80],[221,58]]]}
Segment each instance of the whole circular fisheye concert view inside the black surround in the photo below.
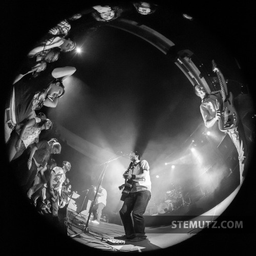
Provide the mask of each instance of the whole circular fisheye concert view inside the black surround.
{"label": "whole circular fisheye concert view inside the black surround", "polygon": [[155,251],[241,227],[221,215],[246,176],[252,98],[238,61],[191,15],[92,5],[53,24],[16,72],[10,168],[70,240]]}

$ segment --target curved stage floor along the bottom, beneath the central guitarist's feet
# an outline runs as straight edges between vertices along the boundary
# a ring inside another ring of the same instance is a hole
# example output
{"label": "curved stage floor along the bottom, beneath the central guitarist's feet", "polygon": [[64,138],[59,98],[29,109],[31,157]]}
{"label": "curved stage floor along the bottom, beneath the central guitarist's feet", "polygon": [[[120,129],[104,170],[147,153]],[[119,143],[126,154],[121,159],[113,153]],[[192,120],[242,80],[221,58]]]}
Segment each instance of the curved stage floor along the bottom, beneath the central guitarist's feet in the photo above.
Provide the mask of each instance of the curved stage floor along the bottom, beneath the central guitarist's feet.
{"label": "curved stage floor along the bottom, beneath the central guitarist's feet", "polygon": [[[237,187],[225,200],[205,212],[201,216],[197,216],[191,220],[199,221],[204,217],[209,217],[210,220],[215,220],[222,212],[227,208],[233,198],[237,195],[240,186]],[[157,216],[155,216],[157,217]],[[167,216],[166,216],[167,217]],[[174,218],[174,216],[169,216]],[[163,249],[175,244],[178,244],[194,234],[200,232],[200,228],[181,228],[177,225],[161,225],[154,227],[146,227],[145,232],[147,239],[140,242],[125,241],[124,244],[113,245],[107,242],[108,239],[114,239],[116,236],[124,235],[124,229],[122,225],[113,223],[100,222],[99,224],[88,223],[88,231],[82,232],[86,226],[86,216],[78,215],[74,210],[67,208],[67,233],[71,237],[77,233],[77,236],[71,238],[82,243],[86,246],[108,250],[108,251],[152,251],[157,249]]]}

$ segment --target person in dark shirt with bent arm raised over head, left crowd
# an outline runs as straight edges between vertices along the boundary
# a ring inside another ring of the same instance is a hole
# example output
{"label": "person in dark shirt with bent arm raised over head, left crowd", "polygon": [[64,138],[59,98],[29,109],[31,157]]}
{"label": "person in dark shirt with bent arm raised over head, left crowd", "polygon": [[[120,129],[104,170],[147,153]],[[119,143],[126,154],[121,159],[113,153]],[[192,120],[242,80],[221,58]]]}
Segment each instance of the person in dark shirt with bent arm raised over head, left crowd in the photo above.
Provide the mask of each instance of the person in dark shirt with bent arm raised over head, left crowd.
{"label": "person in dark shirt with bent arm raised over head, left crowd", "polygon": [[59,98],[65,93],[62,81],[74,74],[74,67],[46,69],[43,74],[32,79],[20,79],[14,86],[6,101],[5,141],[17,123],[27,119],[31,112],[39,110],[43,105],[55,108]]}

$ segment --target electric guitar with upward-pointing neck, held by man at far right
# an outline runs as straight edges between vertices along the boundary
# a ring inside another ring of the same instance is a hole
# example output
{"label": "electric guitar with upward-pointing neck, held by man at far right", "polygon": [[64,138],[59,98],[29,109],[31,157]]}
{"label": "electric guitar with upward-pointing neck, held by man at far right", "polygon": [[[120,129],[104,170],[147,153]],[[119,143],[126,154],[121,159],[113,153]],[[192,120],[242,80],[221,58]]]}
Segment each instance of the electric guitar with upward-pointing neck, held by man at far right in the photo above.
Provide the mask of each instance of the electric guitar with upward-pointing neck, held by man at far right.
{"label": "electric guitar with upward-pointing neck, held by man at far right", "polygon": [[239,122],[239,116],[233,106],[233,94],[226,92],[224,84],[226,81],[221,71],[217,68],[214,60],[212,60],[212,71],[216,72],[222,92],[223,109],[221,110],[221,118],[218,120],[219,129],[222,132],[232,131],[236,129]]}

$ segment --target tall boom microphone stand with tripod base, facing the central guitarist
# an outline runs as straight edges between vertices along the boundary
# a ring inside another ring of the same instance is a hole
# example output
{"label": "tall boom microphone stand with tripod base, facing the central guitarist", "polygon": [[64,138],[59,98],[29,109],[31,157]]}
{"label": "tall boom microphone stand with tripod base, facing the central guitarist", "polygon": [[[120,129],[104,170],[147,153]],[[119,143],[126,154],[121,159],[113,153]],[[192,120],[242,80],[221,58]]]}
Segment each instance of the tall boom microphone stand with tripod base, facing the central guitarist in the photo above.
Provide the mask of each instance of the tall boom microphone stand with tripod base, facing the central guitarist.
{"label": "tall boom microphone stand with tripod base, facing the central guitarist", "polygon": [[97,189],[96,189],[96,193],[95,193],[93,202],[91,203],[91,207],[90,207],[90,209],[89,209],[89,214],[88,214],[88,217],[87,217],[86,226],[82,229],[81,232],[76,233],[76,234],[72,234],[72,236],[70,236],[71,238],[74,238],[74,237],[76,237],[76,236],[79,236],[79,234],[81,234],[81,233],[90,233],[90,234],[93,234],[94,236],[101,237],[101,240],[103,240],[104,237],[99,236],[99,234],[96,234],[96,233],[93,233],[93,232],[89,231],[88,224],[89,224],[90,217],[91,217],[91,214],[92,214],[92,208],[93,208],[93,206],[94,206],[94,203],[95,203],[96,198],[97,198],[97,195],[98,195],[99,187],[100,187],[100,185],[101,185],[101,183],[102,183],[102,180],[103,180],[103,177],[104,177],[104,174],[105,174],[106,167],[108,167],[108,165],[109,165],[110,162],[113,162],[113,161],[117,160],[117,159],[120,158],[120,157],[123,157],[123,155],[122,155],[122,156],[119,156],[119,157],[116,157],[116,158],[114,158],[114,159],[112,159],[112,160],[109,160],[109,161],[106,161],[106,162],[100,164],[100,165],[104,165],[104,166],[103,166],[102,172],[101,172],[101,174],[100,174],[100,176],[99,176],[99,184],[98,184],[98,186],[97,186]]}

